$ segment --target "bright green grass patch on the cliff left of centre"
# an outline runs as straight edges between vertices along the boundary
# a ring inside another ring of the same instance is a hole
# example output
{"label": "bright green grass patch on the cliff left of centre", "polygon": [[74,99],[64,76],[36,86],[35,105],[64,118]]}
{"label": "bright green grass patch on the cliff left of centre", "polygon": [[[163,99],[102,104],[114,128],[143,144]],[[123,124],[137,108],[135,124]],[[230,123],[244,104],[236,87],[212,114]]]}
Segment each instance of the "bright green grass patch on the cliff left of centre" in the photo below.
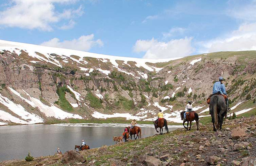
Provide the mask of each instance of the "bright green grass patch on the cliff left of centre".
{"label": "bright green grass patch on the cliff left of centre", "polygon": [[65,97],[66,91],[67,91],[67,87],[57,88],[57,94],[59,95],[59,100],[56,102],[56,104],[58,104],[61,109],[72,112],[73,107]]}

